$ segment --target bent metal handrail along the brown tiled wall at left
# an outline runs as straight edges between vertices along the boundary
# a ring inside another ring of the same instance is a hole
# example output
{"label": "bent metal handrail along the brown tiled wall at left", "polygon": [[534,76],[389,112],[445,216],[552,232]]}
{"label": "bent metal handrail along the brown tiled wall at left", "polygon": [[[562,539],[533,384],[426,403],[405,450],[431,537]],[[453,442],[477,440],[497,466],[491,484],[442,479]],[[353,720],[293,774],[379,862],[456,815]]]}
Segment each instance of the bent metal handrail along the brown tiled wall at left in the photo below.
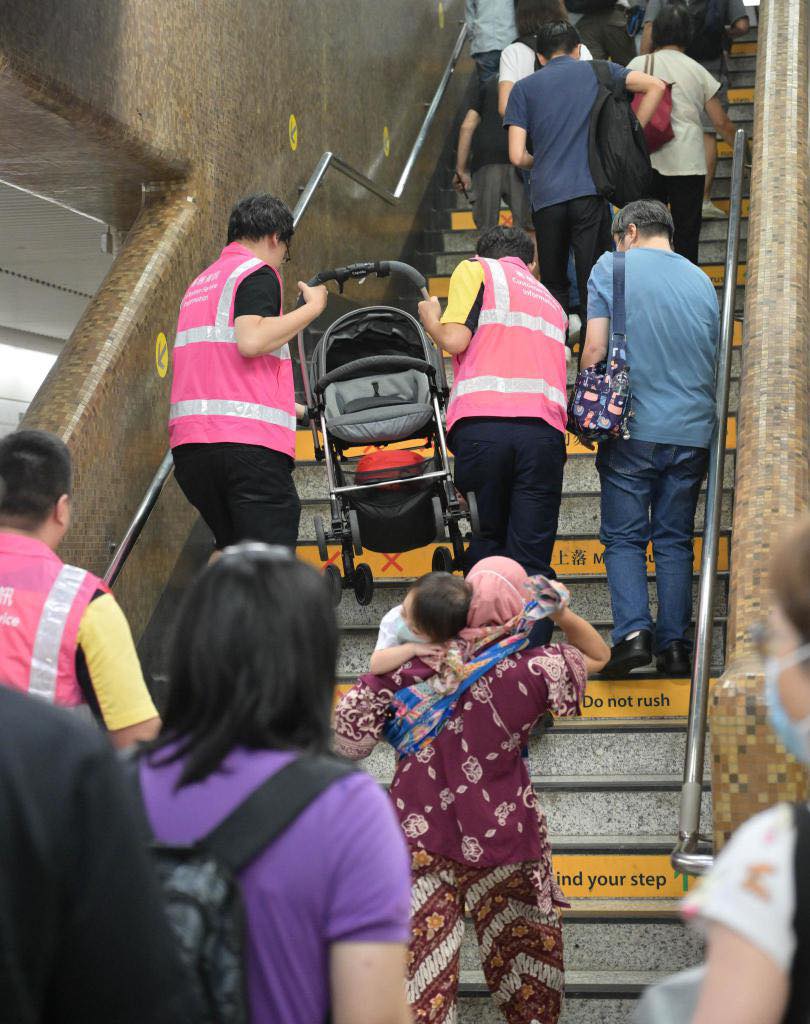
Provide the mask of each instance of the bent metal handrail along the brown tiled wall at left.
{"label": "bent metal handrail along the brown tiled wall at left", "polygon": [[[417,158],[419,157],[419,154],[422,151],[422,146],[425,144],[425,139],[427,138],[427,134],[430,131],[430,126],[433,124],[433,121],[435,119],[436,111],[439,108],[439,104],[444,96],[444,93],[446,92],[447,85],[450,84],[450,80],[453,76],[453,73],[456,70],[456,65],[458,63],[459,57],[461,56],[461,52],[464,49],[464,43],[466,39],[467,39],[467,27],[466,25],[462,25],[461,31],[459,32],[458,38],[456,39],[456,44],[453,47],[453,52],[451,53],[450,59],[447,60],[444,67],[444,72],[441,76],[441,79],[439,80],[438,85],[436,86],[436,91],[433,93],[433,98],[428,103],[427,110],[425,112],[425,117],[423,118],[422,125],[419,129],[419,133],[417,134],[416,140],[413,146],[411,147],[411,153],[408,155],[408,160],[404,163],[404,167],[402,168],[402,173],[399,175],[399,180],[396,182],[396,187],[394,188],[394,190],[389,191],[383,185],[377,184],[377,182],[373,181],[370,177],[368,177],[368,175],[364,174],[361,171],[358,171],[355,167],[352,167],[351,164],[347,164],[345,160],[335,156],[334,153],[328,150],[321,158],[321,160],[318,160],[315,169],[309,176],[309,180],[301,189],[301,195],[298,199],[298,202],[295,205],[295,209],[293,210],[294,226],[296,227],[298,226],[299,221],[306,212],[309,204],[312,202],[312,197],[321,186],[326,176],[326,173],[330,169],[330,167],[334,168],[339,173],[345,175],[347,178],[350,178],[352,181],[356,182],[356,184],[361,185],[364,188],[366,188],[367,191],[372,193],[373,195],[377,196],[379,199],[383,200],[384,202],[388,203],[391,206],[395,206],[400,201],[400,199],[402,198],[402,194],[404,193],[406,186],[408,185],[408,180],[411,177],[411,172],[413,171],[416,165]],[[305,389],[308,390],[309,382],[306,374],[306,357],[304,353],[303,339],[301,335],[299,335],[298,339],[298,355],[300,359],[301,376],[304,379]],[[155,506],[158,504],[158,499],[163,493],[163,488],[166,486],[169,477],[173,472],[174,472],[174,463],[172,462],[172,455],[171,452],[167,452],[167,454],[163,458],[163,462],[161,462],[158,468],[158,471],[152,478],[152,481],[148,487],[146,488],[146,492],[143,495],[143,498],[141,499],[141,502],[138,505],[134,516],[132,517],[132,521],[127,527],[121,543],[116,548],[115,554],[113,555],[113,559],[110,562],[106,571],[104,572],[103,580],[104,583],[108,584],[108,586],[112,587],[112,585],[118,579],[118,575],[121,572],[122,568],[124,567],[124,564],[127,558],[129,557],[130,552],[135,546],[135,542],[143,531],[143,527],[146,525],[146,520],[152,514],[152,511],[155,508]]]}

